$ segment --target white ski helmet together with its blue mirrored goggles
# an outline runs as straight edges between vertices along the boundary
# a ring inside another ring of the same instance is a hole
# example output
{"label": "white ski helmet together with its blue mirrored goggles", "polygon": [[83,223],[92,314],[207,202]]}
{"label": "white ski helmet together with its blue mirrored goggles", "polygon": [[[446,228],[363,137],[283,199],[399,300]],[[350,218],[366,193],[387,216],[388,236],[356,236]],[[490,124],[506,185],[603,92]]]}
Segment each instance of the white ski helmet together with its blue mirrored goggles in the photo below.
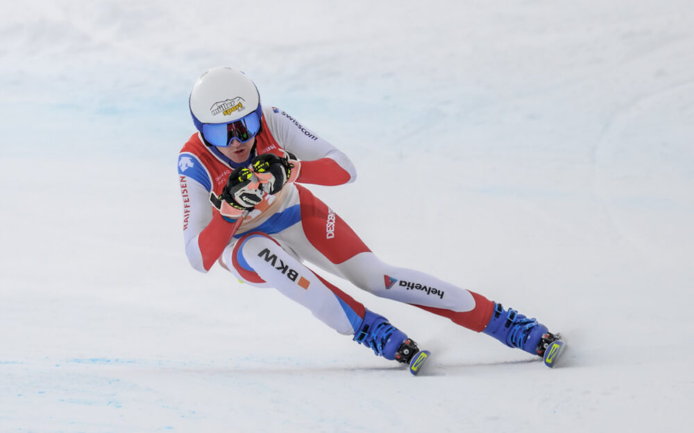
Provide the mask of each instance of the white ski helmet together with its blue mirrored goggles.
{"label": "white ski helmet together with its blue mirrored goggles", "polygon": [[262,107],[257,87],[244,73],[212,68],[193,85],[189,98],[193,123],[208,145],[245,143],[260,131]]}

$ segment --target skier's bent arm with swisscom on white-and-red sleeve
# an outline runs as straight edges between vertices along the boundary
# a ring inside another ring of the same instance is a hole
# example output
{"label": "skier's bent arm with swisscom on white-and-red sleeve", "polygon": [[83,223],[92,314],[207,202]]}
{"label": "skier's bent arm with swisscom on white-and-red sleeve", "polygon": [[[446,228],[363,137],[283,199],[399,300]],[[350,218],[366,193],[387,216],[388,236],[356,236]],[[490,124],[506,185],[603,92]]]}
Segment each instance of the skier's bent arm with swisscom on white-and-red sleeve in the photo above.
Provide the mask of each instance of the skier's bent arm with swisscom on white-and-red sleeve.
{"label": "skier's bent arm with swisscom on white-and-red sleeve", "polygon": [[354,182],[357,170],[346,154],[280,109],[266,110],[264,114],[282,148],[301,159],[296,182],[328,186]]}

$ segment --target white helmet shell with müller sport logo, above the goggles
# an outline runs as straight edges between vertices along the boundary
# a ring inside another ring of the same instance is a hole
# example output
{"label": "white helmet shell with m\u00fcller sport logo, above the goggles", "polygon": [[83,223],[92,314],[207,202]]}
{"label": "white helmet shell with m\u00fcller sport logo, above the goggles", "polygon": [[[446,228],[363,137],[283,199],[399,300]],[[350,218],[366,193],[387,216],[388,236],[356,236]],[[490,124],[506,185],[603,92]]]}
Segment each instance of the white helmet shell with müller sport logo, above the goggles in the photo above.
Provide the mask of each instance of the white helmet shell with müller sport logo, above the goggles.
{"label": "white helmet shell with m\u00fcller sport logo, above the goggles", "polygon": [[196,126],[229,123],[253,113],[260,105],[260,94],[244,73],[217,67],[198,78],[190,92],[189,104]]}

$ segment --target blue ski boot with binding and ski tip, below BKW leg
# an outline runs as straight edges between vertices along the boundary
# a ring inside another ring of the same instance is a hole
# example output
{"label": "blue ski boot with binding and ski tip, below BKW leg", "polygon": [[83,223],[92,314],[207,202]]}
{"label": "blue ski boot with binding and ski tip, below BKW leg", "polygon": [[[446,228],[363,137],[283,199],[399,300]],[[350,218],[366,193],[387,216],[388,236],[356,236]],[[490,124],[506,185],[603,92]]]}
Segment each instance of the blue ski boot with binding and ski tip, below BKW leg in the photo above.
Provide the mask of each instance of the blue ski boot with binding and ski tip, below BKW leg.
{"label": "blue ski boot with binding and ski tip, below BKW leg", "polygon": [[388,320],[366,310],[362,324],[354,334],[354,341],[369,346],[373,353],[387,360],[409,364],[410,373],[417,375],[431,353],[421,351],[403,331],[389,324]]}

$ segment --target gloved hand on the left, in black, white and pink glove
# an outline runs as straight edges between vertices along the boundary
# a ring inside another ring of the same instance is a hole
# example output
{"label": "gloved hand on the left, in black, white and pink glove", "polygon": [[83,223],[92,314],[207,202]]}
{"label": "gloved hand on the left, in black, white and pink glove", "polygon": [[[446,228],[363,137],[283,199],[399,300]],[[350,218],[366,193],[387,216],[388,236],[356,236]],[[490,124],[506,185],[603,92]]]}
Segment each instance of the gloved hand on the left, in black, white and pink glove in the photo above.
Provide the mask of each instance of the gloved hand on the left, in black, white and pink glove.
{"label": "gloved hand on the left, in black, white and pink glove", "polygon": [[210,195],[212,206],[227,218],[239,218],[262,201],[263,192],[257,177],[248,168],[237,168],[229,175],[221,195]]}

